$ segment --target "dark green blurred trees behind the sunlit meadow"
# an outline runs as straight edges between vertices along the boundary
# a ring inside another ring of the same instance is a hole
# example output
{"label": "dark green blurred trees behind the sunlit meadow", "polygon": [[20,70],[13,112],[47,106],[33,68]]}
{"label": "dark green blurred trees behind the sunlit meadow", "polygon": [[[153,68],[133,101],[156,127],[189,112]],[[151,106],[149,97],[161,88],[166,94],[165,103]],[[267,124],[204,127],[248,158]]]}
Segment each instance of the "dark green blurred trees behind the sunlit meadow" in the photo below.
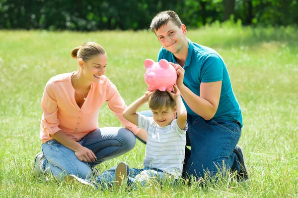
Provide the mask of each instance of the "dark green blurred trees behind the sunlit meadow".
{"label": "dark green blurred trees behind the sunlit meadow", "polygon": [[0,29],[140,30],[169,9],[188,28],[225,20],[253,26],[298,24],[297,0],[0,0]]}

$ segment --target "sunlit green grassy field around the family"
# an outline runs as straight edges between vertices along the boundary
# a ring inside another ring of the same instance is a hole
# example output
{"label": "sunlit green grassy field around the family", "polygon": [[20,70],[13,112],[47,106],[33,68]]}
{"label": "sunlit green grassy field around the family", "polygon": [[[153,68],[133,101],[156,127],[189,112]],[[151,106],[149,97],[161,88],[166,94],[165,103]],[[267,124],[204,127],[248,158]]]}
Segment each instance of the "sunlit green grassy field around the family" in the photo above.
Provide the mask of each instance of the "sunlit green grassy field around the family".
{"label": "sunlit green grassy field around the family", "polygon": [[[298,196],[298,29],[213,25],[189,30],[193,42],[216,49],[228,67],[241,105],[243,146],[251,177],[247,183],[151,185],[135,191],[98,191],[66,182],[40,182],[32,175],[41,150],[40,101],[50,77],[78,68],[74,47],[97,42],[108,54],[106,75],[127,104],[146,91],[144,60],[156,60],[160,45],[152,32],[0,31],[0,197],[264,197]],[[148,107],[143,106],[141,110]],[[107,105],[99,126],[121,126]],[[126,161],[142,167],[145,145],[98,166]]]}

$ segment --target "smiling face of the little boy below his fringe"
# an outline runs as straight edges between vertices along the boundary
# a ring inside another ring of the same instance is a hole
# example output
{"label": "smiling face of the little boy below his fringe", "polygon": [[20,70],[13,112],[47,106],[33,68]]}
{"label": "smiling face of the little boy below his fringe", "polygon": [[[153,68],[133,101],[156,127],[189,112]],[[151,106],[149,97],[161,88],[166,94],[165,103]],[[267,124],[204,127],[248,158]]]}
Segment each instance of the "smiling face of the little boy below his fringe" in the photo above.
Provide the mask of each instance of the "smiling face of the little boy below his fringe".
{"label": "smiling face of the little boy below his fringe", "polygon": [[165,127],[174,120],[176,114],[176,107],[174,109],[170,107],[161,107],[160,109],[152,110],[153,120],[160,126]]}

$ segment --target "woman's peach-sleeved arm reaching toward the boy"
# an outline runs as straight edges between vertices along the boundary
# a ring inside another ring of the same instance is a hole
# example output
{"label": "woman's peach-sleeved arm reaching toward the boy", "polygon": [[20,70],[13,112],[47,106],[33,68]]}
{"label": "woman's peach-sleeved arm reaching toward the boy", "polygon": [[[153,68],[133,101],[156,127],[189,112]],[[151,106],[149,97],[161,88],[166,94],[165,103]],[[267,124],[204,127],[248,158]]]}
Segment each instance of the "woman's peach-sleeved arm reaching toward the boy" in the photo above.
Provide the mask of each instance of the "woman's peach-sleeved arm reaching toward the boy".
{"label": "woman's peach-sleeved arm reaching toward the boy", "polygon": [[121,124],[132,131],[135,135],[139,133],[141,129],[137,128],[136,125],[129,122],[127,119],[123,116],[123,111],[127,108],[124,99],[120,96],[116,86],[112,82],[107,83],[107,103],[109,108],[113,111],[115,116],[118,118],[118,120],[121,122]]}

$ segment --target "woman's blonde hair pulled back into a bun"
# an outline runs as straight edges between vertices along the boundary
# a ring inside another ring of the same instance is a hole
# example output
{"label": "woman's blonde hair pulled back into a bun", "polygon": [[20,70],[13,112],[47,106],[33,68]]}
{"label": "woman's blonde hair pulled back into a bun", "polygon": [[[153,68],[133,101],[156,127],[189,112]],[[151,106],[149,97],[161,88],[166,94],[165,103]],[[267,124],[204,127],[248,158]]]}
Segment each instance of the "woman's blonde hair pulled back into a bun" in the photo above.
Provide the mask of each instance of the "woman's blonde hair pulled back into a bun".
{"label": "woman's blonde hair pulled back into a bun", "polygon": [[88,61],[93,55],[105,53],[98,43],[86,42],[82,46],[74,48],[71,55],[74,59],[82,58],[84,61]]}

